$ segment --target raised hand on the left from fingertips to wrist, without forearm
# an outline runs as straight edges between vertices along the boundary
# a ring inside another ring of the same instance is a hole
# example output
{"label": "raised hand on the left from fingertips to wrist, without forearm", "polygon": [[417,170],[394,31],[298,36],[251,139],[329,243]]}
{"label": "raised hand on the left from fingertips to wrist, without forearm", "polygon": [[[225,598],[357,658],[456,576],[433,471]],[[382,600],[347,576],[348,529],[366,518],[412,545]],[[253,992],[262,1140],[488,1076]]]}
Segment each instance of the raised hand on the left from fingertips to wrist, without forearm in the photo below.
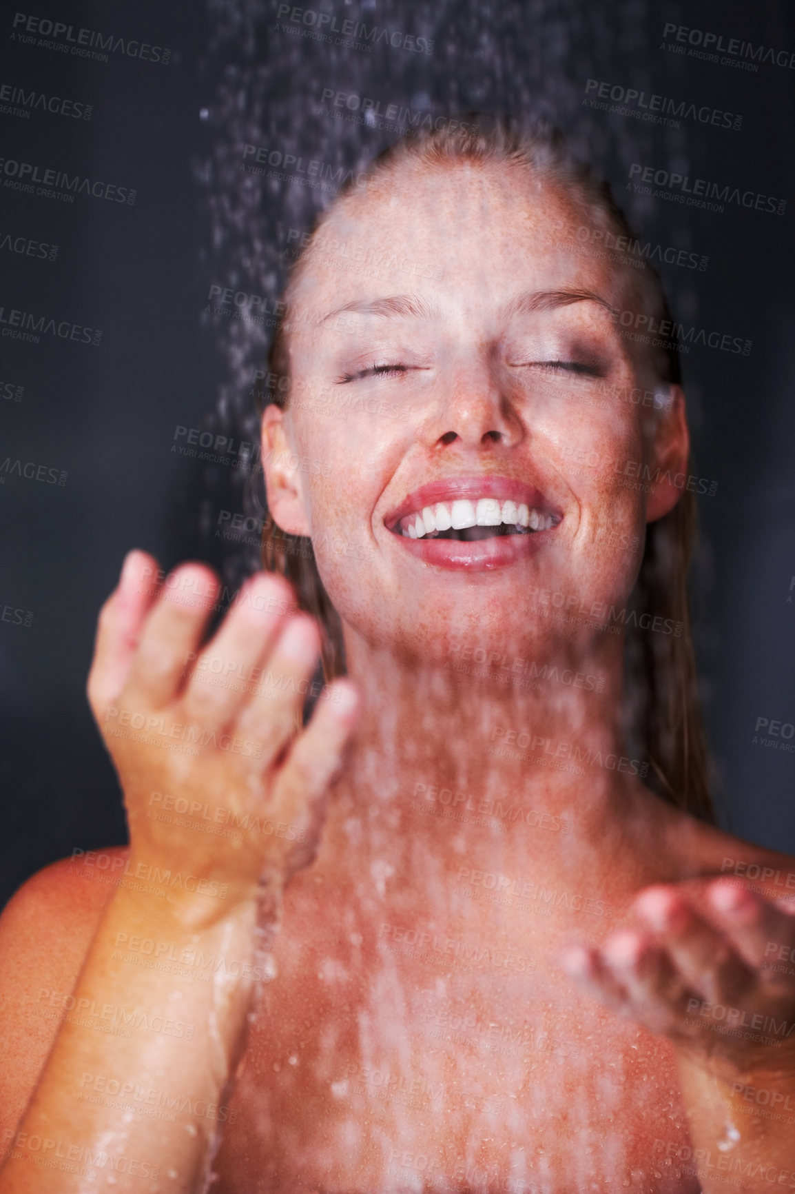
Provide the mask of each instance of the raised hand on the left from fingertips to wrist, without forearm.
{"label": "raised hand on the left from fingertips to wrist, without forearm", "polygon": [[[202,646],[220,584],[197,564],[162,585],[156,561],[127,558],[101,609],[88,698],[124,792],[134,873],[190,876],[210,921],[314,857],[329,783],[356,712],[338,681],[301,731],[320,639],[290,586],[258,573]],[[215,909],[215,911],[214,911]]]}

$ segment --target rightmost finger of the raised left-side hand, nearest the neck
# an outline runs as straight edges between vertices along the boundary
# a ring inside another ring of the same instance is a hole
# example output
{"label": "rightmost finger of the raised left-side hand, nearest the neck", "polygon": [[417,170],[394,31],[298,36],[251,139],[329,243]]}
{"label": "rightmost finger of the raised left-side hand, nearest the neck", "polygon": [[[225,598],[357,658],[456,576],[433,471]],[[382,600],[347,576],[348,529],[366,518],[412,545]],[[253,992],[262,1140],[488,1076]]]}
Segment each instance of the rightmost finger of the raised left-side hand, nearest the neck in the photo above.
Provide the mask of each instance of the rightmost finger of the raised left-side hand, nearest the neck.
{"label": "rightmost finger of the raised left-side hand, nearest the neck", "polygon": [[332,684],[327,696],[315,706],[309,725],[292,744],[279,775],[283,817],[306,833],[309,857],[314,855],[331,783],[343,764],[358,708],[358,694],[349,681]]}

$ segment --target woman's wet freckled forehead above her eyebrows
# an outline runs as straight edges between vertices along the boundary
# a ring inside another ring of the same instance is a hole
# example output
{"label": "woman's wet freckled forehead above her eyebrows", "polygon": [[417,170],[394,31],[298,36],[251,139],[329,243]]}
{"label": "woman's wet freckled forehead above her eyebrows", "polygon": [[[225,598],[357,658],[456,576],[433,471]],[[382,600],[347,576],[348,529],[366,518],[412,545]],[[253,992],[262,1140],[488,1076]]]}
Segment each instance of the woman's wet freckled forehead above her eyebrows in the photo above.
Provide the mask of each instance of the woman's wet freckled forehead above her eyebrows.
{"label": "woman's wet freckled forehead above her eyebrows", "polygon": [[331,209],[290,288],[308,322],[349,301],[423,293],[456,306],[501,303],[523,287],[587,289],[618,304],[624,271],[583,256],[590,220],[556,180],[506,162],[402,162]]}

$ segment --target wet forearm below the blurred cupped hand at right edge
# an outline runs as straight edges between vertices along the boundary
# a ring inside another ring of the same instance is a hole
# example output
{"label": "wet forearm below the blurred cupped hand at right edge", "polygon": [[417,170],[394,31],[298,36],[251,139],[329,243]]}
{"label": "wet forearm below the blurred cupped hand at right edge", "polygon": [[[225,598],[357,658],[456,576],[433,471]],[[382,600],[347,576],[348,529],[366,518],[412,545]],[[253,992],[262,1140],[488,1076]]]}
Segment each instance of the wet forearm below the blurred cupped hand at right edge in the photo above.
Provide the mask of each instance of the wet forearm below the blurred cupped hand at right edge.
{"label": "wet forearm below the blurred cupped hand at right edge", "polygon": [[795,1069],[791,1050],[781,1067],[726,1072],[703,1059],[677,1055],[696,1169],[704,1194],[795,1190]]}

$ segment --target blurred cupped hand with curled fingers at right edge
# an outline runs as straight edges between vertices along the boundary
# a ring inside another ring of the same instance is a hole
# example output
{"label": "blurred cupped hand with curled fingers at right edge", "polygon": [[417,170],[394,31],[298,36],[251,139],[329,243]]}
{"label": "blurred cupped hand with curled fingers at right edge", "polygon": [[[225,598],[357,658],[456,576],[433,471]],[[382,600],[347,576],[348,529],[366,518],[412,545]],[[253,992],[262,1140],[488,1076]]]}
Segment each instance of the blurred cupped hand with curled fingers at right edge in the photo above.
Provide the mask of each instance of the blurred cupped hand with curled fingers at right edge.
{"label": "blurred cupped hand with curled fingers at right edge", "polygon": [[795,1073],[795,906],[725,879],[703,900],[684,885],[647,887],[630,910],[635,928],[568,950],[563,965],[721,1077]]}

